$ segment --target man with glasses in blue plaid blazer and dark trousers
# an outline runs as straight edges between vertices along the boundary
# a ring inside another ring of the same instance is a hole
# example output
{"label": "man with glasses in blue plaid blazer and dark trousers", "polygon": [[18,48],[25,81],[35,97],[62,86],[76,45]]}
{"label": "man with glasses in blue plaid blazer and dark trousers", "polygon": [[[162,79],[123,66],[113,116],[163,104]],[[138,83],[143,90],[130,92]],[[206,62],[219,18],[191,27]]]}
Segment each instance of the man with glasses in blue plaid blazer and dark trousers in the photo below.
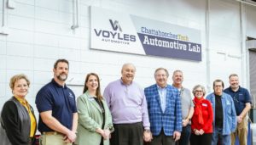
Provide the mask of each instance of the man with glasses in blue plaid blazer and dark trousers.
{"label": "man with glasses in blue plaid blazer and dark trousers", "polygon": [[154,71],[156,84],[145,88],[148,103],[150,145],[175,145],[182,131],[182,110],[177,88],[167,84],[169,73],[165,68]]}

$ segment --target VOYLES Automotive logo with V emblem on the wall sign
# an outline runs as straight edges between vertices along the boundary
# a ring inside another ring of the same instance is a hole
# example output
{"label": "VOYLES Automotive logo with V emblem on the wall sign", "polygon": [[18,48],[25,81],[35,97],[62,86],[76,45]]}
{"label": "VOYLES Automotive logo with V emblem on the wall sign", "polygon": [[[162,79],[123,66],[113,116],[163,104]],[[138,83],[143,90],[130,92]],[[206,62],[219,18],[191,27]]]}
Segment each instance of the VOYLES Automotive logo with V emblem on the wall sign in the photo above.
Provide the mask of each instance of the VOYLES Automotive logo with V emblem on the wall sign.
{"label": "VOYLES Automotive logo with V emblem on the wall sign", "polygon": [[102,37],[102,41],[128,45],[129,42],[136,42],[136,36],[123,33],[118,20],[109,20],[109,22],[113,31],[94,29],[96,36]]}

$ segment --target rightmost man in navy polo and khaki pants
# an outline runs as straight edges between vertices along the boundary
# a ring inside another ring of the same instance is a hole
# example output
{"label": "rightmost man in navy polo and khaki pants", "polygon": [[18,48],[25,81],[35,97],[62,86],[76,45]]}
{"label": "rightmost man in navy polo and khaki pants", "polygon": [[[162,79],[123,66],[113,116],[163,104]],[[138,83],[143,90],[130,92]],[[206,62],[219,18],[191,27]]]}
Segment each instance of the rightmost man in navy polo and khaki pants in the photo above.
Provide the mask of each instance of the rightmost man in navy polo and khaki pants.
{"label": "rightmost man in navy polo and khaki pants", "polygon": [[239,138],[240,145],[247,145],[247,113],[251,109],[251,97],[246,88],[239,86],[238,75],[230,75],[230,87],[224,92],[233,98],[237,115],[236,131],[231,134],[231,143],[235,144],[236,136]]}

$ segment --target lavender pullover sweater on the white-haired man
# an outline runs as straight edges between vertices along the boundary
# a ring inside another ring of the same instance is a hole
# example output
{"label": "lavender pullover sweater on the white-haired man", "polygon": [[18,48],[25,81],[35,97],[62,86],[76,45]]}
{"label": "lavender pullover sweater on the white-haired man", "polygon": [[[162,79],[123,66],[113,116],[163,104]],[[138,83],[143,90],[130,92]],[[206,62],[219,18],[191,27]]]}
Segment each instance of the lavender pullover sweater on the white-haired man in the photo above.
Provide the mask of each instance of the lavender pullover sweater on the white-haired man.
{"label": "lavender pullover sweater on the white-haired man", "polygon": [[132,81],[125,85],[119,79],[108,84],[103,97],[112,114],[113,124],[131,124],[143,121],[145,129],[149,129],[148,107],[143,89]]}

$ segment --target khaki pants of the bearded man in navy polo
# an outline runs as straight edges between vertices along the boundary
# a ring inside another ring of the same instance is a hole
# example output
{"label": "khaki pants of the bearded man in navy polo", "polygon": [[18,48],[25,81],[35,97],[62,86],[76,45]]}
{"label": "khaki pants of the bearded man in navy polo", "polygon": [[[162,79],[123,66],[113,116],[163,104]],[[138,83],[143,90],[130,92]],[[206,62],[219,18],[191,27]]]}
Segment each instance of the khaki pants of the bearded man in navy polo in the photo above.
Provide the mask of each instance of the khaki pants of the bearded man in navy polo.
{"label": "khaki pants of the bearded man in navy polo", "polygon": [[40,145],[72,145],[72,143],[65,143],[63,140],[64,136],[61,134],[43,134],[40,136]]}

